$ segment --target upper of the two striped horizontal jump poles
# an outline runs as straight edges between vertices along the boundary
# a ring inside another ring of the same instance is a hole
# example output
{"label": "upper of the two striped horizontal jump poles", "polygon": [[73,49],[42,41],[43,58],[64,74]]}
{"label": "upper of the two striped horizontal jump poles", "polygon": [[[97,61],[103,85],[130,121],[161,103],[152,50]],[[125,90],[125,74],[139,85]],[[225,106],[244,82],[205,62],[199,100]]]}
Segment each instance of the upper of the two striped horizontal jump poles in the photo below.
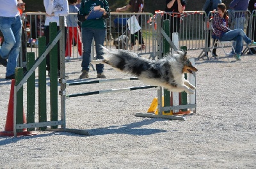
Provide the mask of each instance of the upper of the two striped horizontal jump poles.
{"label": "upper of the two striped horizontal jump poles", "polygon": [[131,77],[131,78],[113,78],[113,79],[102,79],[102,80],[92,80],[92,81],[84,81],[84,82],[73,82],[73,83],[67,83],[67,87],[70,85],[83,85],[83,84],[104,84],[108,82],[124,82],[124,81],[130,81],[130,80],[138,80],[137,77]]}

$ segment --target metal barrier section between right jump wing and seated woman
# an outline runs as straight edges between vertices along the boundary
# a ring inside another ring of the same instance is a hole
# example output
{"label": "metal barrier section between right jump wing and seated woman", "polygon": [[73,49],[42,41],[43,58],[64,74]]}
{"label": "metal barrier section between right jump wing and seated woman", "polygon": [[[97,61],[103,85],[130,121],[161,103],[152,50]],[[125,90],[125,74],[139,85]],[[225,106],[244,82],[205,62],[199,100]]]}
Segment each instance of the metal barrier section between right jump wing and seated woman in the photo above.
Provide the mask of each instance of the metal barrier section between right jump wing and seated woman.
{"label": "metal barrier section between right jump wing and seated woman", "polygon": [[162,26],[165,20],[170,20],[168,34],[171,40],[172,33],[179,33],[179,44],[176,45],[179,50],[204,50],[206,45],[204,11],[184,11],[183,13],[161,11],[161,13]]}

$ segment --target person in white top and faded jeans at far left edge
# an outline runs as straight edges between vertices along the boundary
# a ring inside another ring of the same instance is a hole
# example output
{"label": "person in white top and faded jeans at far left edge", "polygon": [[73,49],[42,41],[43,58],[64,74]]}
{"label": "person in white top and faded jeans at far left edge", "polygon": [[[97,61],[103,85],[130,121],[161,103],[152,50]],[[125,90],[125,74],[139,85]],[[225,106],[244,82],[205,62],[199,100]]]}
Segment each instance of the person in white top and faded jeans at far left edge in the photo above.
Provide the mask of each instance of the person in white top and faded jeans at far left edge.
{"label": "person in white top and faded jeans at far left edge", "polygon": [[0,64],[6,66],[6,80],[15,78],[15,68],[17,67],[17,59],[20,53],[22,28],[18,8],[22,8],[23,6],[24,3],[18,4],[17,0],[1,1],[0,30],[3,33],[4,42],[0,47]]}

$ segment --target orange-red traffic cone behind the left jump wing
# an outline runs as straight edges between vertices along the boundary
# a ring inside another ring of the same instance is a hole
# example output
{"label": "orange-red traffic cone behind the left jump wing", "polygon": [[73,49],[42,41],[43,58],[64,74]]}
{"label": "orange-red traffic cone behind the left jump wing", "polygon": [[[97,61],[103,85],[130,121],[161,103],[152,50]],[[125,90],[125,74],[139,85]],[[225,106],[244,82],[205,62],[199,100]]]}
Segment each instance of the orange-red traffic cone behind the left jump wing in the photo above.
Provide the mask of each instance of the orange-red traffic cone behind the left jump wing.
{"label": "orange-red traffic cone behind the left jump wing", "polygon": [[[8,112],[6,116],[6,123],[4,131],[0,132],[0,136],[14,136],[13,133],[13,101],[14,101],[14,84],[15,80],[12,79],[11,91],[10,91],[10,99],[8,104]],[[23,110],[23,122],[26,123],[26,116]],[[23,129],[22,132],[17,132],[17,136],[24,136],[24,135],[33,135],[31,131],[27,131],[27,129]]]}

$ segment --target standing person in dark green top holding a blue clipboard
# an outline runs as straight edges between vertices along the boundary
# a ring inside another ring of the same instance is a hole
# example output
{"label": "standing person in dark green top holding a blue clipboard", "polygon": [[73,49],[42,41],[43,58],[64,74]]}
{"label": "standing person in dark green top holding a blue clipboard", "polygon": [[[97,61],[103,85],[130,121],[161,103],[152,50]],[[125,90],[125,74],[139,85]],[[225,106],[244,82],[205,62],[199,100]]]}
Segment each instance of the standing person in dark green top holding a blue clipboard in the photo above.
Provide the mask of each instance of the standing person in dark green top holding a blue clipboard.
{"label": "standing person in dark green top holding a blue clipboard", "polygon": [[[99,8],[102,11],[102,16],[99,18],[87,19],[90,11]],[[106,0],[81,1],[81,7],[77,15],[78,20],[83,22],[82,27],[82,42],[83,42],[83,60],[82,60],[82,75],[79,78],[88,78],[90,67],[91,45],[94,38],[96,48],[96,59],[103,59],[103,51],[100,45],[104,45],[106,36],[106,18],[109,18],[109,6]],[[97,78],[106,78],[104,75],[104,64],[96,64]]]}

